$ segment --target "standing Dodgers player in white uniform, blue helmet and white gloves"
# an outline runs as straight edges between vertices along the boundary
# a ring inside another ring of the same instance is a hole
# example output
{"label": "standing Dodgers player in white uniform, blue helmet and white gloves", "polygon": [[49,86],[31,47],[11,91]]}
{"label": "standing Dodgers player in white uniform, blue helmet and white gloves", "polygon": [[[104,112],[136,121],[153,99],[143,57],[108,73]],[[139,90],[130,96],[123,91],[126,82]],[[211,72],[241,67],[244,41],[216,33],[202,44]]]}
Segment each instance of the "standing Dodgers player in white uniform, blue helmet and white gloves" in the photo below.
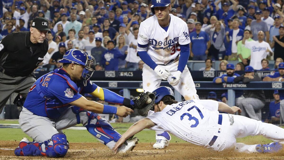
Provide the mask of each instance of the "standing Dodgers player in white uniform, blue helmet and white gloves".
{"label": "standing Dodgers player in white uniform, blue helmet and white gloves", "polygon": [[[145,62],[143,67],[143,90],[153,91],[162,80],[178,90],[185,100],[199,99],[195,84],[186,66],[189,58],[189,33],[187,24],[169,14],[170,0],[152,0],[154,16],[141,22],[137,51]],[[153,114],[149,111],[148,115]],[[167,132],[156,132],[154,148],[161,149],[170,143]]]}

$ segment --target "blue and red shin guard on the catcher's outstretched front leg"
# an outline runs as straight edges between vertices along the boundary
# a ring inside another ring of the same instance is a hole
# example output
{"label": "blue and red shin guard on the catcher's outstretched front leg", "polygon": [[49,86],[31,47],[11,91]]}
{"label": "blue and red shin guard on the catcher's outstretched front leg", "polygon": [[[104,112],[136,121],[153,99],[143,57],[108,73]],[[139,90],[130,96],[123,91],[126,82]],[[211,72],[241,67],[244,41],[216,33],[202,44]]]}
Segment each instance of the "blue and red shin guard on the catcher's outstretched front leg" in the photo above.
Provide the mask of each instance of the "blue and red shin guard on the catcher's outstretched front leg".
{"label": "blue and red shin guard on the catcher's outstretched front leg", "polygon": [[[116,132],[105,119],[101,118],[101,116],[96,113],[87,111],[87,116],[89,117],[88,124],[85,125],[87,130],[100,142],[112,149],[121,135]],[[111,142],[110,144],[112,145],[110,145],[109,142]]]}

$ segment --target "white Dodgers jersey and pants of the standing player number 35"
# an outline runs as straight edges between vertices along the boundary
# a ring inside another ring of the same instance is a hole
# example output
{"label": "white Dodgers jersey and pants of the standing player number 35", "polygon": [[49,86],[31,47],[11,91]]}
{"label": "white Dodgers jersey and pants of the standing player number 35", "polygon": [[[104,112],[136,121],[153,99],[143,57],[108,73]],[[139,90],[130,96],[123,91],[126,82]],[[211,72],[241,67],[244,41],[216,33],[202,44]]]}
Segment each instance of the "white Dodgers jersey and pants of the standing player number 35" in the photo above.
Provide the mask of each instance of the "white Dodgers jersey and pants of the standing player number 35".
{"label": "white Dodgers jersey and pants of the standing player number 35", "polygon": [[[170,24],[165,31],[158,23],[156,15],[147,18],[141,22],[138,33],[138,44],[147,45],[142,48],[137,46],[137,51],[147,51],[151,59],[157,64],[162,65],[171,72],[168,82],[172,80],[173,74],[177,72],[179,63],[179,45],[190,43],[187,24],[170,14]],[[160,86],[161,78],[152,68],[144,64],[143,67],[143,90],[152,92]],[[185,66],[181,74],[181,80],[178,85],[173,86],[185,97],[185,99],[199,99],[196,93],[195,84],[191,74]]]}

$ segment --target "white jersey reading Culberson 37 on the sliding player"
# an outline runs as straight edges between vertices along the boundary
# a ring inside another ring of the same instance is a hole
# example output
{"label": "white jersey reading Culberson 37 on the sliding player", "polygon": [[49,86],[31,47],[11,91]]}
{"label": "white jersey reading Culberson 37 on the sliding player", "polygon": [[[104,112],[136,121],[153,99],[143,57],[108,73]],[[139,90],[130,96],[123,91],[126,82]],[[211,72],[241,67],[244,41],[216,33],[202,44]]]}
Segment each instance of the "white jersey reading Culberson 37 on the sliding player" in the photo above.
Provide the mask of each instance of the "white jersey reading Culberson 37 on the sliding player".
{"label": "white jersey reading Culberson 37 on the sliding player", "polygon": [[187,142],[205,146],[218,135],[218,102],[187,100],[167,105],[162,111],[148,116],[156,125],[152,130],[167,131]]}

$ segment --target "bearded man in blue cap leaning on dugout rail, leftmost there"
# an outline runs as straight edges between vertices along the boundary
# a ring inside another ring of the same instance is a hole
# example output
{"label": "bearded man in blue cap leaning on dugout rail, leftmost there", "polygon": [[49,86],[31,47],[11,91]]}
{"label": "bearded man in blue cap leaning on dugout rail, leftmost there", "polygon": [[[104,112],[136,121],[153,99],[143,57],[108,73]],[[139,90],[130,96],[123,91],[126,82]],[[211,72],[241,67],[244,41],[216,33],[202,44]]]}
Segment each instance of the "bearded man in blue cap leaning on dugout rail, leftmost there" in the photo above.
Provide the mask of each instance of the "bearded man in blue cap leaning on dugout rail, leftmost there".
{"label": "bearded man in blue cap leaning on dugout rail, leftmost there", "polygon": [[227,64],[227,74],[223,74],[219,77],[215,77],[213,79],[213,82],[214,83],[233,83],[234,82],[234,79],[236,77],[239,77],[240,75],[235,73],[235,66],[231,63]]}

